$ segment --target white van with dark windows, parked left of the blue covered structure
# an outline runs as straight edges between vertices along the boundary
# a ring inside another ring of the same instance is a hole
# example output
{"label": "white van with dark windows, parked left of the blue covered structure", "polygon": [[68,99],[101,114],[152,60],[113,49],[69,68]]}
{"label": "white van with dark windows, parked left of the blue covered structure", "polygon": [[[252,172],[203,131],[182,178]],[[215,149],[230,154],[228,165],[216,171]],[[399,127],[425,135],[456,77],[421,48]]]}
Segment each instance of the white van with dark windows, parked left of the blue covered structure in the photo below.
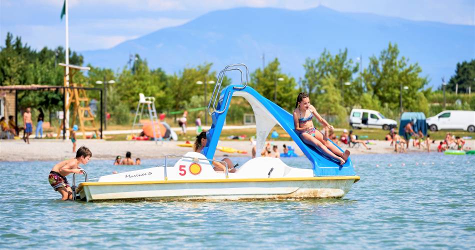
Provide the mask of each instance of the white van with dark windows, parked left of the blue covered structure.
{"label": "white van with dark windows, parked left of the blue covered structure", "polygon": [[353,128],[371,127],[389,130],[396,127],[397,122],[384,117],[376,110],[353,108],[349,113],[349,125]]}

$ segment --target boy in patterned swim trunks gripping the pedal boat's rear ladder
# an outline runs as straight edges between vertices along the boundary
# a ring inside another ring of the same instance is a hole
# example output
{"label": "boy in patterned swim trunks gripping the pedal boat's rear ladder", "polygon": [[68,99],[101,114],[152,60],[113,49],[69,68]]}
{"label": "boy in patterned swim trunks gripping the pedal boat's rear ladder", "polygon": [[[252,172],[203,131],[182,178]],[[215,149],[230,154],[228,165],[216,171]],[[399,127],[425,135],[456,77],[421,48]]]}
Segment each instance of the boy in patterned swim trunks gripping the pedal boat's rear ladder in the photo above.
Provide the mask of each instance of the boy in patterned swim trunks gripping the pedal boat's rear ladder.
{"label": "boy in patterned swim trunks gripping the pedal boat's rear ladder", "polygon": [[72,190],[65,176],[69,173],[82,174],[79,163],[87,164],[90,157],[92,157],[92,153],[89,148],[81,146],[77,149],[75,158],[63,160],[55,164],[49,172],[49,184],[54,188],[54,191],[58,191],[62,195],[62,200],[72,199]]}

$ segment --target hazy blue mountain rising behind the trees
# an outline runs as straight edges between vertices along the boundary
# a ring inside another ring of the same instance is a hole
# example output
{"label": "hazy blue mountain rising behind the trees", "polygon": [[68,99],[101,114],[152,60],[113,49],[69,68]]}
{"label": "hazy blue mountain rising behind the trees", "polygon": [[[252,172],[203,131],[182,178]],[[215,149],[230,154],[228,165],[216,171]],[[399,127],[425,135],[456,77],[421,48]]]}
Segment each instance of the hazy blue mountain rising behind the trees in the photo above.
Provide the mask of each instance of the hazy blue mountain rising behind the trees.
{"label": "hazy blue mountain rising behind the trees", "polygon": [[348,48],[363,65],[378,55],[388,42],[399,46],[401,55],[418,62],[429,86],[453,74],[455,65],[475,58],[475,26],[411,21],[368,13],[338,12],[319,6],[307,10],[233,8],[204,14],[183,25],[159,29],[124,41],[110,49],[82,51],[94,66],[122,68],[129,53],[147,59],[150,67],[177,72],[185,66],[213,62],[213,69],[243,62],[250,71],[278,57],[285,73],[303,76],[306,57],[318,57]]}

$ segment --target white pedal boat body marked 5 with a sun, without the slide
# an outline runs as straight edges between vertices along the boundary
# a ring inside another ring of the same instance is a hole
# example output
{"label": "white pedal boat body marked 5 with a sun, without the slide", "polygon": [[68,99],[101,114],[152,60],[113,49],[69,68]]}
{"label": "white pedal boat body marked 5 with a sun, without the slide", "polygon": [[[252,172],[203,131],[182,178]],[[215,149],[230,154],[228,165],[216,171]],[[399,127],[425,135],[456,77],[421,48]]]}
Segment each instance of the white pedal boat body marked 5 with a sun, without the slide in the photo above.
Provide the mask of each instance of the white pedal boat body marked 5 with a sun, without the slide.
{"label": "white pedal boat body marked 5 with a sun, without the slide", "polygon": [[250,159],[234,173],[217,172],[203,154],[188,152],[172,166],[104,175],[80,183],[75,192],[86,201],[341,198],[358,180],[313,176],[312,169],[273,157]]}

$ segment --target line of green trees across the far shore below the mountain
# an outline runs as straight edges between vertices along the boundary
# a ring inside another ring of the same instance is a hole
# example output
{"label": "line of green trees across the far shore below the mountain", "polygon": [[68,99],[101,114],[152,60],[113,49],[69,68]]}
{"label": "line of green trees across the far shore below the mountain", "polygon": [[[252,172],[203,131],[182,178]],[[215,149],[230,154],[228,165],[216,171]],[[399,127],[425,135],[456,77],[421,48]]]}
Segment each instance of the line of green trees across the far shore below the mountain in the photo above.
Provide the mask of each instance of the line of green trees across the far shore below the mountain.
{"label": "line of green trees across the far shore below the mountain", "polygon": [[[23,44],[20,37],[13,38],[11,33],[7,33],[5,44],[0,48],[1,85],[63,84],[64,69],[57,65],[64,60],[63,47],[44,47],[36,51]],[[82,55],[75,51],[69,54],[71,64],[83,64]],[[370,56],[365,68],[360,67],[359,63],[348,56],[346,48],[335,54],[324,49],[318,58],[306,58],[302,65],[305,74],[296,79],[283,72],[278,58],[274,58],[263,68],[250,73],[248,85],[288,111],[293,110],[298,92],[307,92],[317,110],[336,124],[345,123],[353,107],[376,109],[388,117],[396,118],[400,112],[400,96],[403,111],[421,111],[433,115],[441,108],[438,105],[441,89],[426,88],[428,78],[422,75],[422,68],[417,62],[400,55],[397,44],[389,42],[379,55]],[[217,72],[211,70],[212,63],[185,67],[170,74],[159,67],[150,68],[147,60],[139,54],[135,54],[130,66],[124,65],[117,71],[87,66],[91,68],[89,71],[75,75],[75,81],[83,86],[102,87],[95,81],[104,78],[116,81],[106,86],[107,110],[116,123],[130,122],[130,113],[136,108],[138,93],[154,96],[158,112],[203,106],[207,101],[203,96],[203,88],[207,87],[206,97],[209,98],[214,85],[198,85],[196,81],[216,81],[217,76]],[[360,68],[362,70],[358,70]],[[230,84],[231,79],[225,78],[223,83]],[[453,86],[456,83],[458,92],[466,92],[468,86],[475,86],[475,59],[457,64],[455,74],[446,87],[447,95],[455,90]],[[98,92],[90,91],[88,94],[90,98],[99,99]],[[438,104],[433,107],[435,99]],[[475,109],[473,99],[462,98],[459,108]],[[43,106],[46,109],[57,106],[60,109],[62,94],[59,91],[21,91],[19,105]],[[241,120],[241,114],[249,111],[248,107],[240,107],[237,113],[230,115]]]}

